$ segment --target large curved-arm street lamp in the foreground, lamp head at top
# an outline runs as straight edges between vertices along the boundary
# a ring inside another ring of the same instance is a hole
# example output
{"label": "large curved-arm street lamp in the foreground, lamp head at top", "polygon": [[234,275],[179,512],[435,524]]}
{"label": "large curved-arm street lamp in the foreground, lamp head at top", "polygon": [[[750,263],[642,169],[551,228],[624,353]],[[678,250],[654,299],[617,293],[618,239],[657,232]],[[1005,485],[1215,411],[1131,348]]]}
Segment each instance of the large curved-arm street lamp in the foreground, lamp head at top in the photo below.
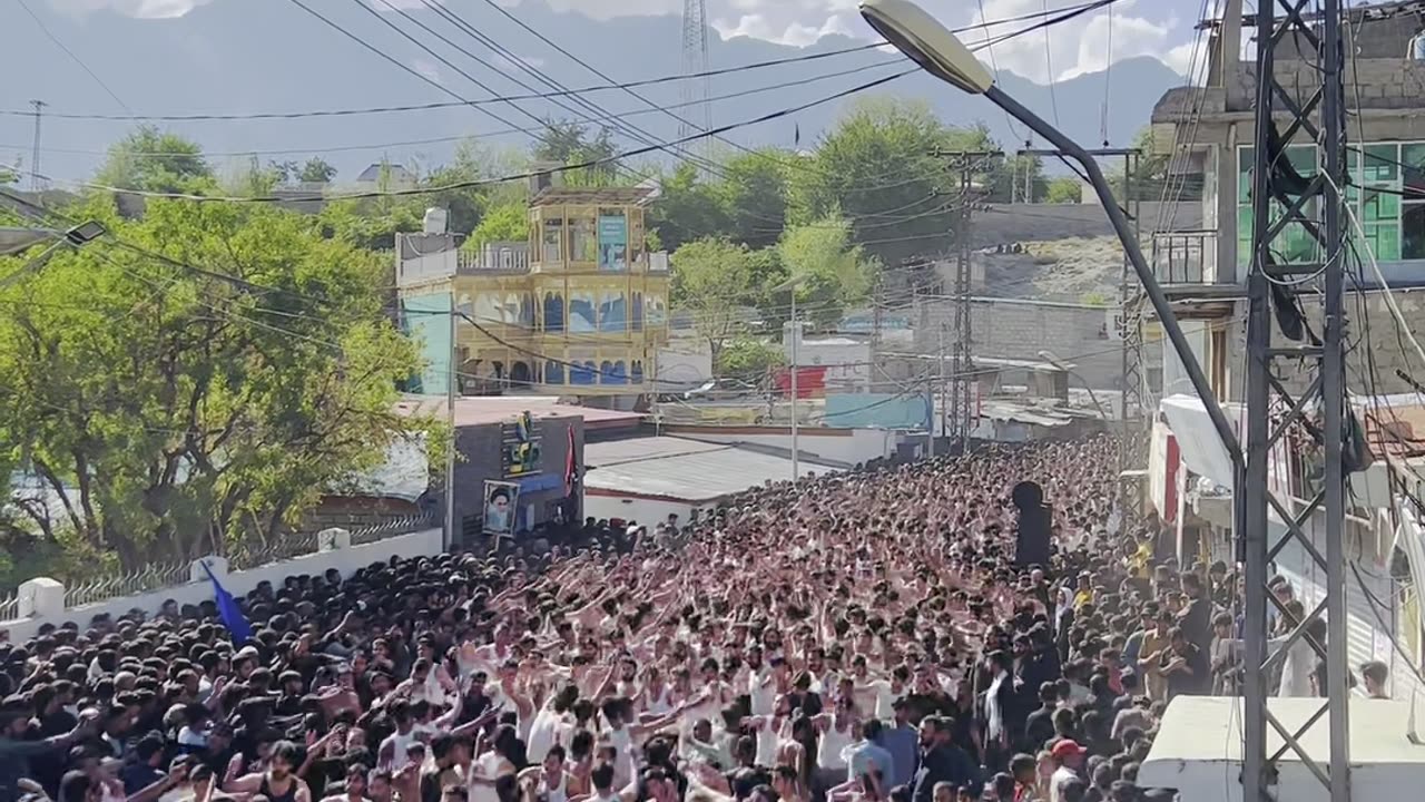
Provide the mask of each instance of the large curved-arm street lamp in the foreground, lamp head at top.
{"label": "large curved-arm street lamp in the foreground, lamp head at top", "polygon": [[1064,157],[1073,158],[1083,167],[1089,183],[1093,184],[1093,190],[1099,194],[1099,201],[1103,203],[1103,211],[1109,215],[1109,223],[1113,224],[1113,230],[1119,234],[1119,241],[1123,243],[1123,250],[1129,255],[1129,261],[1133,263],[1133,271],[1137,273],[1139,281],[1143,283],[1143,293],[1147,295],[1149,303],[1153,304],[1153,311],[1157,313],[1159,321],[1163,324],[1163,333],[1173,344],[1173,350],[1177,351],[1178,360],[1181,360],[1183,368],[1193,382],[1193,390],[1197,391],[1197,395],[1203,400],[1203,405],[1207,408],[1207,415],[1213,420],[1213,428],[1217,430],[1217,435],[1233,457],[1233,462],[1241,465],[1241,445],[1237,441],[1233,425],[1227,421],[1227,415],[1223,414],[1223,408],[1213,394],[1213,385],[1207,381],[1207,374],[1203,372],[1203,365],[1193,355],[1193,347],[1187,342],[1187,335],[1183,334],[1183,328],[1177,324],[1167,295],[1163,294],[1163,288],[1143,257],[1143,248],[1139,247],[1139,240],[1133,235],[1129,218],[1119,207],[1119,201],[1114,200],[1109,180],[1104,178],[1103,170],[1099,168],[1099,163],[1094,161],[1093,156],[1083,146],[1064,136],[1063,131],[1054,128],[995,86],[995,77],[965,47],[965,43],[956,39],[953,33],[923,9],[911,3],[911,0],[862,0],[861,16],[886,41],[919,64],[926,73],[962,91],[983,94],[990,103],[999,106],[1009,116],[1059,148]]}

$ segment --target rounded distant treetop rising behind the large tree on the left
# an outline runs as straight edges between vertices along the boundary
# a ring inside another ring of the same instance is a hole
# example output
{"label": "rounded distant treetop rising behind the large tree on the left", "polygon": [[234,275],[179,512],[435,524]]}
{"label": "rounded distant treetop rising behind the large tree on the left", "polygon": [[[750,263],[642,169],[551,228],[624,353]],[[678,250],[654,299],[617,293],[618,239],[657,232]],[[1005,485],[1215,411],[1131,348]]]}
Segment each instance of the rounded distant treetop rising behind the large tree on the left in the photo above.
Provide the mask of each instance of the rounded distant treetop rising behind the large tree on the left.
{"label": "rounded distant treetop rising behind the large tree on the left", "polygon": [[95,183],[147,193],[194,193],[211,188],[212,168],[198,143],[157,126],[140,126],[108,148]]}

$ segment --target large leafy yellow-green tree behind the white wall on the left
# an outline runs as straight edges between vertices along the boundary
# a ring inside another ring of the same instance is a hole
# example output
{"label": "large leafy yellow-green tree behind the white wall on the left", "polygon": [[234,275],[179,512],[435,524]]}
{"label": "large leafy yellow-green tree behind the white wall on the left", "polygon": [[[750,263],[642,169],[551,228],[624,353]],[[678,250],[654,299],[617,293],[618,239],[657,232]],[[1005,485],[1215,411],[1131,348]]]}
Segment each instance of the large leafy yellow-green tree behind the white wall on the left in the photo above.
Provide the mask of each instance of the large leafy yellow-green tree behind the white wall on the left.
{"label": "large leafy yellow-green tree behind the white wall on the left", "polygon": [[264,204],[78,215],[127,247],[0,291],[0,442],[56,499],[20,509],[33,534],[124,568],[265,542],[428,428],[393,410],[419,364],[386,260]]}

